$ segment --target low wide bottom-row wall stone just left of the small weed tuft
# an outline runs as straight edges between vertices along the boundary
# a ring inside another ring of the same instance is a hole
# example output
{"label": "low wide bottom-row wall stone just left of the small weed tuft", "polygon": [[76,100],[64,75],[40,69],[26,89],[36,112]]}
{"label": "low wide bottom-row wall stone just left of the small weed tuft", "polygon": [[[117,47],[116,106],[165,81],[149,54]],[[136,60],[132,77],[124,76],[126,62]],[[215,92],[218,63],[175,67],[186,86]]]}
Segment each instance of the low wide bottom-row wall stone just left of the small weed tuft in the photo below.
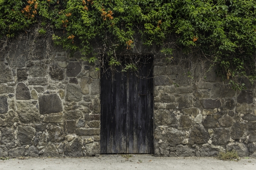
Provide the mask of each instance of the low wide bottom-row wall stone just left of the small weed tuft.
{"label": "low wide bottom-row wall stone just left of the small weed tuft", "polygon": [[203,144],[200,148],[200,156],[218,156],[220,152],[225,152],[221,146],[214,146],[212,144]]}

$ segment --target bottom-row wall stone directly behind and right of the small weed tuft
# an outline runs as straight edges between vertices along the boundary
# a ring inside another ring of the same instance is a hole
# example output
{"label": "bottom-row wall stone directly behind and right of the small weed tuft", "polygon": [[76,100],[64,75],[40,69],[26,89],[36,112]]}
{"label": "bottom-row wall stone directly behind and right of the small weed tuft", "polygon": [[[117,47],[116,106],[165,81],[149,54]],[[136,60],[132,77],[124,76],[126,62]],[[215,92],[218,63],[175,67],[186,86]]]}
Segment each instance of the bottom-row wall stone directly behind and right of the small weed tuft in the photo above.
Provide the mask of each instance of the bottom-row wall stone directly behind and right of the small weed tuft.
{"label": "bottom-row wall stone directly behind and right of the small weed tuft", "polygon": [[236,150],[236,152],[238,153],[238,156],[240,157],[249,156],[248,148],[243,143],[239,143],[239,142],[229,143],[226,145],[226,150],[227,151]]}

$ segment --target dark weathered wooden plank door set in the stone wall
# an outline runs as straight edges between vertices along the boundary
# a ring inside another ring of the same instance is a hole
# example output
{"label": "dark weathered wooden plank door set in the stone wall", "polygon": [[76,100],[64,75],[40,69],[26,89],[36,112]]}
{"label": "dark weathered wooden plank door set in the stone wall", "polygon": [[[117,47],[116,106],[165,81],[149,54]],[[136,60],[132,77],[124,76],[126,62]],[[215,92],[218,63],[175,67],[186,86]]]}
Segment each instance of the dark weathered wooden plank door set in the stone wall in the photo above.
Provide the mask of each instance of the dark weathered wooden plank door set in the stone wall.
{"label": "dark weathered wooden plank door set in the stone wall", "polygon": [[153,153],[153,59],[101,75],[101,153]]}

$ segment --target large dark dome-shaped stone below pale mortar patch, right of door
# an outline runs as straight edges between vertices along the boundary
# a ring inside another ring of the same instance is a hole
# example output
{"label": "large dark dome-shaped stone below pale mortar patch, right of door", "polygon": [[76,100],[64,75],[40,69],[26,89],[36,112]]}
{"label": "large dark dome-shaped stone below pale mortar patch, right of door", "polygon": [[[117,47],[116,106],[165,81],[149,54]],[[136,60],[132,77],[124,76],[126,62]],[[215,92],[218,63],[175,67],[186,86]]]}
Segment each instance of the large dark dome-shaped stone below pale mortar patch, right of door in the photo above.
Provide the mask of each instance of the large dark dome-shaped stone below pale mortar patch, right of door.
{"label": "large dark dome-shaped stone below pale mortar patch, right of door", "polygon": [[194,125],[189,133],[189,144],[204,144],[209,140],[207,130],[201,125]]}

